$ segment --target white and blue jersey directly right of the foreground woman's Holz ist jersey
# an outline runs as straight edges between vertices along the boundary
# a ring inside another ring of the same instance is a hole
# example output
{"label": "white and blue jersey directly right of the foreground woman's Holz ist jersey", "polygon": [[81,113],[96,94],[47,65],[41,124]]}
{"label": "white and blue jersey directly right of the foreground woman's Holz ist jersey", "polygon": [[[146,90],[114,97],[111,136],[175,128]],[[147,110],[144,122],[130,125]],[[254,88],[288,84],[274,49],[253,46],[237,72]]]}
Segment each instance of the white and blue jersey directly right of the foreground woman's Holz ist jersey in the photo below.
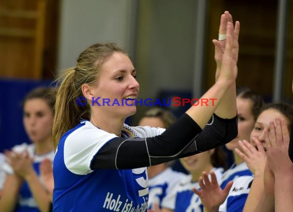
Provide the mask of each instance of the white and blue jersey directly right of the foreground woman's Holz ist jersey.
{"label": "white and blue jersey directly right of the foreground woman's Holz ist jersey", "polygon": [[161,208],[161,201],[168,195],[171,188],[184,178],[186,174],[172,170],[170,167],[161,173],[149,178],[149,209],[153,209],[154,203]]}

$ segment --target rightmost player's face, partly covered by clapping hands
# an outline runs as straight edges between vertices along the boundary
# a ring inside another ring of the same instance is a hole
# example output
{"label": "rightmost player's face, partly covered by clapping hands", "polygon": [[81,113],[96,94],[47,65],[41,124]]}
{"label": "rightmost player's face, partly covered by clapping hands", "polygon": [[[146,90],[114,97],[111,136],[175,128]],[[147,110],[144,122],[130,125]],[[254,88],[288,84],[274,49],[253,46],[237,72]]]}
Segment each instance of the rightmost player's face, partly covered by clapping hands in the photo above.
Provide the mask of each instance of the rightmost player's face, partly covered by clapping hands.
{"label": "rightmost player's face, partly covered by clapping hands", "polygon": [[281,112],[279,112],[276,109],[267,109],[259,115],[257,122],[255,122],[254,128],[250,134],[250,143],[255,146],[252,137],[256,137],[260,140],[260,142],[266,149],[264,131],[266,130],[269,132],[269,123],[270,121],[275,121],[276,118],[284,119],[286,125],[288,126],[288,119],[286,118],[286,116],[284,116]]}

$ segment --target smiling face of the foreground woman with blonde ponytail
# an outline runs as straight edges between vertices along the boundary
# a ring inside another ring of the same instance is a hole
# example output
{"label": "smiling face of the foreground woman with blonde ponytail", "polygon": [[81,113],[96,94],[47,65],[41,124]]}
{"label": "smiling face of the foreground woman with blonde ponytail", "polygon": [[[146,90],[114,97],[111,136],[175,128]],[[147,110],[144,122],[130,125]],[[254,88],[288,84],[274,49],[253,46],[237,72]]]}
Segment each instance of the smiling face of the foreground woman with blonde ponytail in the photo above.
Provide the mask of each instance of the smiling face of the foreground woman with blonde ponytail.
{"label": "smiling face of the foreground woman with blonde ponytail", "polygon": [[[138,93],[139,83],[136,81],[136,70],[131,60],[122,52],[115,51],[103,61],[97,83],[93,86],[92,94],[95,99],[100,97],[98,102],[102,105],[95,103],[96,110],[109,116],[112,114],[126,118],[136,112],[134,99],[137,98]],[[129,100],[125,102],[126,99]],[[108,106],[105,101],[113,106]],[[114,102],[116,104],[113,104]]]}

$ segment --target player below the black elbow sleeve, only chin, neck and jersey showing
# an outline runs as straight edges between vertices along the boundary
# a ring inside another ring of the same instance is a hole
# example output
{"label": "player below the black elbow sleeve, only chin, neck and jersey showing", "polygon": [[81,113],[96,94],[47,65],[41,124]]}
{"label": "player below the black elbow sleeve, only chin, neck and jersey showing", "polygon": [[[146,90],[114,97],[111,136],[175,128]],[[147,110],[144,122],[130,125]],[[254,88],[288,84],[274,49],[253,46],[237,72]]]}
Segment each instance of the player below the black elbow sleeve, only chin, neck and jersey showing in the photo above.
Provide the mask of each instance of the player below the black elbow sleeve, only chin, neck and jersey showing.
{"label": "player below the black elbow sleeve, only chin, neck and jersey showing", "polygon": [[200,198],[192,192],[192,188],[199,189],[198,179],[203,171],[214,171],[216,178],[221,182],[226,166],[225,153],[221,147],[180,158],[184,168],[190,173],[182,178],[162,201],[162,212],[203,211]]}

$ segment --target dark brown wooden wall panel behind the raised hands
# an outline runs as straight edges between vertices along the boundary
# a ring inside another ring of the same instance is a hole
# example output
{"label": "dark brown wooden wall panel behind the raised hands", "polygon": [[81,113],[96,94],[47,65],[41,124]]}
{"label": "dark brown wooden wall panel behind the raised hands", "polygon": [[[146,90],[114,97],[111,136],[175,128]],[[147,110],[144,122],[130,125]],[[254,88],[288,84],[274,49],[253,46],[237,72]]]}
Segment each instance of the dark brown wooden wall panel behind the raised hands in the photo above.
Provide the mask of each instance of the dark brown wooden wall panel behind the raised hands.
{"label": "dark brown wooden wall panel behind the raised hands", "polygon": [[[217,7],[221,10],[216,9]],[[231,12],[233,21],[238,20],[241,23],[237,86],[247,86],[265,97],[270,97],[273,89],[277,1],[209,1],[206,88],[214,83],[216,66],[211,40],[217,37],[219,18],[224,10]]]}

